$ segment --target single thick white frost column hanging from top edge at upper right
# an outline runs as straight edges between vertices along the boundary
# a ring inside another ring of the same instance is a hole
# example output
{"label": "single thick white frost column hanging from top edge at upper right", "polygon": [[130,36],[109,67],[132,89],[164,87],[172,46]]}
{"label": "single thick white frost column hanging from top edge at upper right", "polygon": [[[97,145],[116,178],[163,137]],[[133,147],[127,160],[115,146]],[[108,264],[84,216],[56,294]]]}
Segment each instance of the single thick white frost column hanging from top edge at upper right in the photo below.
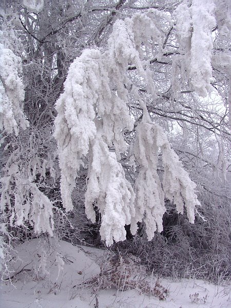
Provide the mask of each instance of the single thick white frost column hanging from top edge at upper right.
{"label": "single thick white frost column hanging from top edge at upper right", "polygon": [[176,29],[181,56],[174,61],[181,66],[182,76],[186,75],[191,81],[192,89],[202,97],[211,91],[212,30],[215,27],[213,1],[192,0],[190,7],[187,1],[184,1],[176,9]]}

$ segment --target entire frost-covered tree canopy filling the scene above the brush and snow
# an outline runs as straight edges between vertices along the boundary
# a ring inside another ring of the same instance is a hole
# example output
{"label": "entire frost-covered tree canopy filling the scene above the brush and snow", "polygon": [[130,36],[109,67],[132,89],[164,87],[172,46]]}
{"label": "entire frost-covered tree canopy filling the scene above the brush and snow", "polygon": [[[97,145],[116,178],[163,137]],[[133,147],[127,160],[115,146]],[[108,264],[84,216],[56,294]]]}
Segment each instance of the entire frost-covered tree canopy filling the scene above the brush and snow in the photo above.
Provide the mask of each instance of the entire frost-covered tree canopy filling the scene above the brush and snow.
{"label": "entire frost-covered tree canopy filling the scene above the brush and snow", "polygon": [[151,240],[166,200],[190,222],[205,195],[230,202],[228,0],[4,0],[0,17],[3,234],[52,236],[80,203],[107,245],[138,222]]}

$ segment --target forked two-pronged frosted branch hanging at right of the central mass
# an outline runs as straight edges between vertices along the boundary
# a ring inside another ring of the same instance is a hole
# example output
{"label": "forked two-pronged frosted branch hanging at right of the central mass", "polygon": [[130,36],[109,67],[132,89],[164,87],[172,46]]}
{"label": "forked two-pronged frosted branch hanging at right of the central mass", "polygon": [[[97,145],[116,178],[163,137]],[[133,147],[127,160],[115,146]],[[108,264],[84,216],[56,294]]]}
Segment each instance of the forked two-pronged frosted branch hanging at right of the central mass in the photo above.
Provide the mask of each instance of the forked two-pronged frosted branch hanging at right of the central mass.
{"label": "forked two-pronged frosted branch hanging at right of the central mass", "polygon": [[[159,149],[164,167],[162,183],[157,173]],[[136,222],[143,218],[148,240],[153,238],[156,229],[159,232],[163,230],[162,217],[166,211],[164,198],[174,201],[178,213],[182,214],[185,203],[188,219],[193,223],[195,208],[200,205],[195,195],[196,184],[183,169],[160,126],[144,121],[139,124],[134,157],[141,168],[135,184],[136,215],[131,222],[132,234],[136,233]]]}

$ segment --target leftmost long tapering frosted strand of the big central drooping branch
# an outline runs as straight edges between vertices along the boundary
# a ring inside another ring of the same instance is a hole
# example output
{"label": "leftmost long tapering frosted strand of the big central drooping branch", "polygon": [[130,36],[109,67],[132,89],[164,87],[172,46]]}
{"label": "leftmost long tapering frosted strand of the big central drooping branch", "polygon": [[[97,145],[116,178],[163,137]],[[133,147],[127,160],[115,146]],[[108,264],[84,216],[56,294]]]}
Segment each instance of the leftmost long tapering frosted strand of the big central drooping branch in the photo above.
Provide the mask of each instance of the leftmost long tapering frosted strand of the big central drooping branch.
{"label": "leftmost long tapering frosted strand of the big central drooping branch", "polygon": [[54,137],[57,140],[61,167],[61,194],[64,207],[73,208],[71,192],[75,187],[82,157],[95,138],[95,106],[99,89],[102,55],[99,50],[86,50],[70,66],[64,93],[56,103]]}

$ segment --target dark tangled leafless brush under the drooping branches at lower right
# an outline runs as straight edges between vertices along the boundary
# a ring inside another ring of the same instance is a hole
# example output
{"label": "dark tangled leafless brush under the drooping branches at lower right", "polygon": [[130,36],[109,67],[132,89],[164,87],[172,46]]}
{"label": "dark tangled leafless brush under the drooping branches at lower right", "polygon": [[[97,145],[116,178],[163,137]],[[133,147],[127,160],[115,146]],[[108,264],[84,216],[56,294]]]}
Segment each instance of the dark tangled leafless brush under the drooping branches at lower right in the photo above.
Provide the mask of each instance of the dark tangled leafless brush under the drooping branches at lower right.
{"label": "dark tangled leafless brush under the drooping branches at lower right", "polygon": [[[211,197],[211,196],[210,196]],[[147,241],[140,226],[139,234],[110,248],[122,255],[141,259],[154,275],[172,278],[197,278],[222,283],[229,279],[230,267],[230,204],[210,198],[202,206],[204,222],[199,216],[190,224],[185,215],[167,206],[163,232]],[[214,204],[219,204],[219,207]]]}

